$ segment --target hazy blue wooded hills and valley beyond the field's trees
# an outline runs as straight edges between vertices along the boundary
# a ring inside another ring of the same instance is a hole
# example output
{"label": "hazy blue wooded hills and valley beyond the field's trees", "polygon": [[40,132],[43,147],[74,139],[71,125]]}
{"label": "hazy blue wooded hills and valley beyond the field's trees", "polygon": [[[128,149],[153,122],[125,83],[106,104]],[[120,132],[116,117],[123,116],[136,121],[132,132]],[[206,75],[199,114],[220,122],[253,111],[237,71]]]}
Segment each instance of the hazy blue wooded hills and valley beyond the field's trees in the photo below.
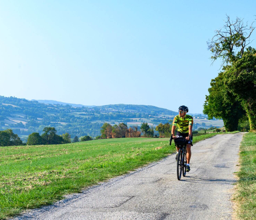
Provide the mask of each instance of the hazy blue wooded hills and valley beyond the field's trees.
{"label": "hazy blue wooded hills and valley beyond the field's trees", "polygon": [[[85,106],[0,96],[0,130],[10,128],[23,141],[33,132],[42,134],[45,126],[55,127],[57,134],[67,132],[71,138],[85,135],[96,137],[101,134],[100,129],[105,122],[112,126],[125,123],[128,127],[140,127],[145,122],[155,127],[159,123],[170,123],[177,114],[152,105]],[[200,118],[196,120],[198,125],[195,123],[195,128],[202,123]],[[213,122],[204,120],[207,125],[213,125]]]}

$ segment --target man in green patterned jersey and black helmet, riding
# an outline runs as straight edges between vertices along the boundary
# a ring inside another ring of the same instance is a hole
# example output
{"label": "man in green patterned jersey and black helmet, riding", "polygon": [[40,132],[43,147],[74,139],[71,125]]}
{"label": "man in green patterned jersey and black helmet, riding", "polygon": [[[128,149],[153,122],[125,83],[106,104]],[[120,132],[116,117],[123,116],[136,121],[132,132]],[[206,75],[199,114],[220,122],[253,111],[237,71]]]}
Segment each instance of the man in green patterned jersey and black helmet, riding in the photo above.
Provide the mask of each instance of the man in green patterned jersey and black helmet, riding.
{"label": "man in green patterned jersey and black helmet, riding", "polygon": [[[187,140],[187,166],[186,171],[190,171],[190,158],[191,158],[191,144],[193,140],[192,135],[192,126],[193,126],[193,117],[190,115],[187,115],[188,107],[185,105],[182,105],[179,107],[179,115],[176,115],[172,122],[172,135],[173,139],[176,137],[182,136],[186,138]],[[175,136],[175,128],[178,126],[177,136]],[[189,135],[191,137],[191,142],[189,140]],[[178,151],[179,148],[176,147],[177,154],[176,154],[176,160],[178,159]]]}

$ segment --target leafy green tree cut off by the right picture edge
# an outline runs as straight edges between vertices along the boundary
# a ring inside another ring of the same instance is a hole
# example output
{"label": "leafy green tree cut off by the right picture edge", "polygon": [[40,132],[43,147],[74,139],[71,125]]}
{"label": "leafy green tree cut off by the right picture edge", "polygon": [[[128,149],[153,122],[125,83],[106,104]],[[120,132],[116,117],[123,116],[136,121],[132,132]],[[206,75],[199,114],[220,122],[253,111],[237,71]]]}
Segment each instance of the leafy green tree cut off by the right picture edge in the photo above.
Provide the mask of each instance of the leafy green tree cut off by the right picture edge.
{"label": "leafy green tree cut off by the right picture edge", "polygon": [[256,131],[256,50],[249,47],[241,59],[225,71],[225,85],[241,101],[249,118],[250,129]]}

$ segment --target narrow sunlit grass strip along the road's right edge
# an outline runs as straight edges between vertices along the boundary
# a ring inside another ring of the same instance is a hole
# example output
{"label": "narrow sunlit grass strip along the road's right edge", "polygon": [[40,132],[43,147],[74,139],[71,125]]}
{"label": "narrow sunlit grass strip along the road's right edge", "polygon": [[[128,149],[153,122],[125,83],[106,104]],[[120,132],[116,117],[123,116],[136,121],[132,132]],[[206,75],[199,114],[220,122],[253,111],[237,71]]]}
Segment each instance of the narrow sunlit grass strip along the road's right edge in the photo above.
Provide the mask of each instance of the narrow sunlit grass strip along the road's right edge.
{"label": "narrow sunlit grass strip along the road's right edge", "polygon": [[256,219],[256,133],[244,135],[240,146],[240,171],[234,201],[238,219]]}

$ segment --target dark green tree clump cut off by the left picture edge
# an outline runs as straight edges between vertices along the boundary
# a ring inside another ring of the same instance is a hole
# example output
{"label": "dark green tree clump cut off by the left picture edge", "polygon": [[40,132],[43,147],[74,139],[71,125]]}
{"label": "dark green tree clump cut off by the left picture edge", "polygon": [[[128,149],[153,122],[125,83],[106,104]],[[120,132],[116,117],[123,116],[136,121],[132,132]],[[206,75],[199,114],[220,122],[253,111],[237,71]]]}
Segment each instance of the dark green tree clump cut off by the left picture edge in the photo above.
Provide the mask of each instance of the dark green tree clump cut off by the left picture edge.
{"label": "dark green tree clump cut off by the left picture edge", "polygon": [[15,146],[23,145],[17,134],[14,134],[11,129],[0,131],[0,146]]}

